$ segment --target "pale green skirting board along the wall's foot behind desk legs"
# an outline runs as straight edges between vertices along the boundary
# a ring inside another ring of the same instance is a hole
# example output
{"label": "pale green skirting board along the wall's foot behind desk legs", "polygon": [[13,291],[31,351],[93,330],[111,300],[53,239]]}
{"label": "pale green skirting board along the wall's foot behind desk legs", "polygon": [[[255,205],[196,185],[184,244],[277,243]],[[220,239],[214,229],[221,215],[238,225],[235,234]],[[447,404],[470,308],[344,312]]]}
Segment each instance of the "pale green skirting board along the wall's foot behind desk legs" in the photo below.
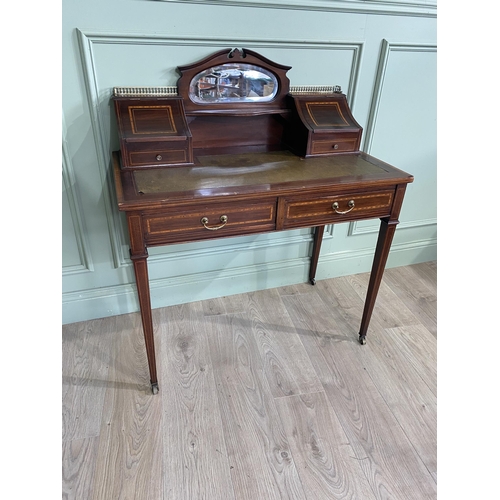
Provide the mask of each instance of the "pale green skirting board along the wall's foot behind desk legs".
{"label": "pale green skirting board along the wall's foot behind desk legs", "polygon": [[[418,264],[437,259],[436,240],[393,245],[387,268]],[[341,252],[320,256],[316,279],[328,279],[369,272],[373,251]],[[234,295],[308,281],[309,259],[259,264],[224,271],[152,280],[153,309]],[[220,291],[224,293],[221,294]],[[76,323],[139,311],[135,284],[63,294],[62,323]]]}

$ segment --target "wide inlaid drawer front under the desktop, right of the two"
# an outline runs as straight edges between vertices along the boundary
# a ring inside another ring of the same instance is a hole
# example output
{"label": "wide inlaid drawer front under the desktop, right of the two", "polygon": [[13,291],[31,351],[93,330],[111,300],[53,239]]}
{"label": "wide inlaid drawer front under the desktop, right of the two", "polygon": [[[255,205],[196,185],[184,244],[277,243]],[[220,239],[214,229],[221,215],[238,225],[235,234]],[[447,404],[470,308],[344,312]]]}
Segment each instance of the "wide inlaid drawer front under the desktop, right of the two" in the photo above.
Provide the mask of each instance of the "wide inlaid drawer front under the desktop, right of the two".
{"label": "wide inlaid drawer front under the desktop, right of the two", "polygon": [[280,200],[283,229],[388,216],[393,195],[392,190],[386,190],[339,196],[283,198]]}

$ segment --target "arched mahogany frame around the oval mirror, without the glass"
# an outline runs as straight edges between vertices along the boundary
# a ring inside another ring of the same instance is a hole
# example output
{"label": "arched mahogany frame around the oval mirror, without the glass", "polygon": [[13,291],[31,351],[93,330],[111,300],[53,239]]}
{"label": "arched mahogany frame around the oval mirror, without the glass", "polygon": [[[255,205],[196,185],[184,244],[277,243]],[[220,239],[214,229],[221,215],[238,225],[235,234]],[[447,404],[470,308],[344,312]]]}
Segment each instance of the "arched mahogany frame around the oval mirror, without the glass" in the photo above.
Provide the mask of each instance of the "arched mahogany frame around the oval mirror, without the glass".
{"label": "arched mahogany frame around the oval mirror, without the glass", "polygon": [[[229,100],[226,102],[194,102],[190,98],[191,83],[199,74],[210,68],[222,65],[244,64],[262,68],[276,77],[277,91],[272,100],[249,101]],[[187,115],[198,114],[265,114],[279,113],[287,110],[286,95],[290,89],[290,81],[286,76],[291,66],[284,66],[248,49],[224,49],[194,64],[179,66],[181,77],[177,81],[178,94],[183,97]]]}

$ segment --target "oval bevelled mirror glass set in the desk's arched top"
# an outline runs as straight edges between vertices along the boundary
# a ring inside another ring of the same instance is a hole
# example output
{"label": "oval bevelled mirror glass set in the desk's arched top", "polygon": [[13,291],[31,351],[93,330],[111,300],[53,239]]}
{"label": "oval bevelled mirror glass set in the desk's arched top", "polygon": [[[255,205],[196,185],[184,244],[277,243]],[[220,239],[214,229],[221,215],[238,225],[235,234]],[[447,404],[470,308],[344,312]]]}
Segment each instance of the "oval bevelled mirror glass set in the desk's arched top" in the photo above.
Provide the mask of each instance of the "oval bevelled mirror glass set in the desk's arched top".
{"label": "oval bevelled mirror glass set in the desk's arched top", "polygon": [[197,104],[268,102],[278,92],[278,80],[270,71],[253,64],[221,64],[193,77],[189,98]]}

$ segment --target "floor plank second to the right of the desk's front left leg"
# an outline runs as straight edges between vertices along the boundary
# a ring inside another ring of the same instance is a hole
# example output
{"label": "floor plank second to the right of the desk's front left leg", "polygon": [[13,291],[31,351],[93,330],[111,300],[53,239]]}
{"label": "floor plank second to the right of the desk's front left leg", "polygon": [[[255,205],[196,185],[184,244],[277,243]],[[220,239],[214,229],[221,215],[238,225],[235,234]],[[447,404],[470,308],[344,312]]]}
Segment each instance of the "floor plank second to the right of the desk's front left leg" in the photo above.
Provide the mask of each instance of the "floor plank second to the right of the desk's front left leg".
{"label": "floor plank second to the right of the desk's front left leg", "polygon": [[305,498],[248,318],[212,317],[209,335],[235,497]]}

